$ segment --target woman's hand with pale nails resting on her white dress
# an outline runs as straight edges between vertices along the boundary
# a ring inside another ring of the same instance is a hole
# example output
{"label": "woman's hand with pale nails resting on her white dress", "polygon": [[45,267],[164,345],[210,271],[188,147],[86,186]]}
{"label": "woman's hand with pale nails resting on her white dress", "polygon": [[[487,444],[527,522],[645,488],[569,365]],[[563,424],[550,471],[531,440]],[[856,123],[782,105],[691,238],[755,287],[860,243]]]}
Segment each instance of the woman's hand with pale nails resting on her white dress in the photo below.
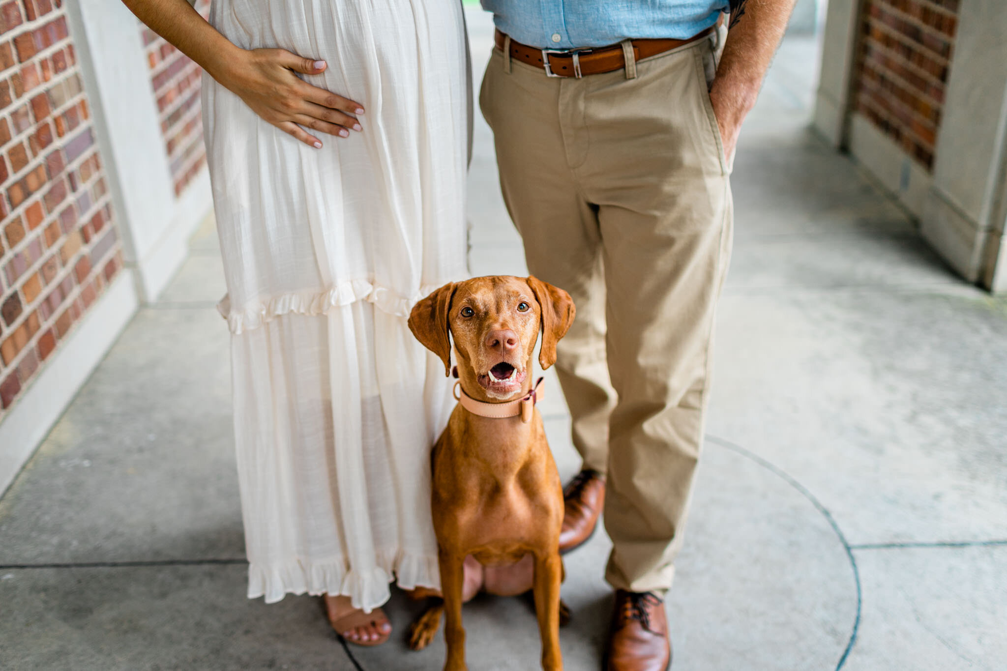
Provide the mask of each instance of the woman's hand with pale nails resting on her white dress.
{"label": "woman's hand with pale nails resting on her white dress", "polygon": [[313,87],[295,74],[319,74],[325,70],[325,61],[302,58],[286,49],[239,53],[237,62],[232,61],[227,73],[217,79],[284,133],[321,148],[318,138],[302,126],[343,138],[349,137],[350,130],[363,130],[357,117],[364,114],[364,106]]}

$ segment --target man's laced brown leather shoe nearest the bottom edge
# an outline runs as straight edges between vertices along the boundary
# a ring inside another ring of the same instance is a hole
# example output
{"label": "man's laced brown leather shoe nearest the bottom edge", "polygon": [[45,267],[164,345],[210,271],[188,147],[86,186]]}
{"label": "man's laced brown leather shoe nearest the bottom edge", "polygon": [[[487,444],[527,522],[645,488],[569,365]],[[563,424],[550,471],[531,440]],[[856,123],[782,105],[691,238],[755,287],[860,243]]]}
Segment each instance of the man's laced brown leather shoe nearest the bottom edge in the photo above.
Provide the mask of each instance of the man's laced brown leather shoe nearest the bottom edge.
{"label": "man's laced brown leather shoe nearest the bottom edge", "polygon": [[652,592],[615,591],[607,671],[666,671],[672,666],[665,602]]}

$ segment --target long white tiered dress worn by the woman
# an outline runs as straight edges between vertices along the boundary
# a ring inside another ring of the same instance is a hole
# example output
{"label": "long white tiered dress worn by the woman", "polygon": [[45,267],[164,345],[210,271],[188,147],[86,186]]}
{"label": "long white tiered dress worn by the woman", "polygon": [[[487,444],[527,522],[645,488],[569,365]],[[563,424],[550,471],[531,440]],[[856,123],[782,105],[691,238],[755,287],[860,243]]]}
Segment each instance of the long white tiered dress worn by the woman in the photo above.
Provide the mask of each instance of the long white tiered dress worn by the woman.
{"label": "long white tiered dress worn by the woman", "polygon": [[248,595],[437,588],[429,456],[454,401],[406,320],[466,276],[460,3],[213,0],[210,23],[326,60],[305,80],[367,110],[319,150],[204,78]]}

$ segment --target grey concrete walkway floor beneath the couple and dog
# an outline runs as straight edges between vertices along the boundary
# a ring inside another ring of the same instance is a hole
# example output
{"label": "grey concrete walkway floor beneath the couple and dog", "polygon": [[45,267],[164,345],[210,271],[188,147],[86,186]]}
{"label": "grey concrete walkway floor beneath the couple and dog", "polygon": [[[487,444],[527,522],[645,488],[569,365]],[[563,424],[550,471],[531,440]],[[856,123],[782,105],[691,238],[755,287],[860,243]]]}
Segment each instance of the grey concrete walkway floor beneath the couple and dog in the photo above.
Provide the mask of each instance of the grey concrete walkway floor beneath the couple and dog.
{"label": "grey concrete walkway floor beneath the couple and dog", "polygon": [[[489,23],[469,20],[478,77]],[[952,276],[807,130],[815,61],[787,38],[738,150],[709,440],[668,601],[675,668],[1002,669],[1007,300]],[[522,274],[477,122],[471,268]],[[339,644],[316,599],[245,599],[223,293],[205,226],[0,500],[0,668],[440,668],[440,636],[406,649],[416,607],[399,597],[397,634],[367,650]],[[598,533],[567,558],[568,669],[599,668],[607,550]],[[536,668],[523,601],[477,599],[465,623],[473,670]]]}

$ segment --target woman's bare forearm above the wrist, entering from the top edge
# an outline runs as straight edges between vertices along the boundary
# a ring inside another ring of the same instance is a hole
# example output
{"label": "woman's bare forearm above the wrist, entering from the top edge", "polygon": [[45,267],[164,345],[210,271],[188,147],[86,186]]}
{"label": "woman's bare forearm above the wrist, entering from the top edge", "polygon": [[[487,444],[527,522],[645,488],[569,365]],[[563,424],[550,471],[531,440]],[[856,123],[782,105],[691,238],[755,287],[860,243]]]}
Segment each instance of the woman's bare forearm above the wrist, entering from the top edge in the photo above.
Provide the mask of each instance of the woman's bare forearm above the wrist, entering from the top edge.
{"label": "woman's bare forearm above the wrist, entering from the top edge", "polygon": [[186,0],[123,0],[141,21],[224,83],[242,49],[209,25]]}

